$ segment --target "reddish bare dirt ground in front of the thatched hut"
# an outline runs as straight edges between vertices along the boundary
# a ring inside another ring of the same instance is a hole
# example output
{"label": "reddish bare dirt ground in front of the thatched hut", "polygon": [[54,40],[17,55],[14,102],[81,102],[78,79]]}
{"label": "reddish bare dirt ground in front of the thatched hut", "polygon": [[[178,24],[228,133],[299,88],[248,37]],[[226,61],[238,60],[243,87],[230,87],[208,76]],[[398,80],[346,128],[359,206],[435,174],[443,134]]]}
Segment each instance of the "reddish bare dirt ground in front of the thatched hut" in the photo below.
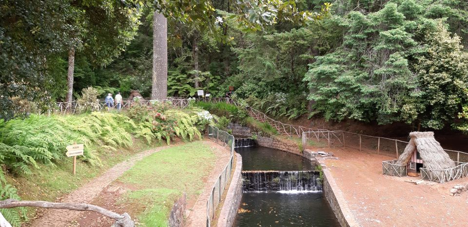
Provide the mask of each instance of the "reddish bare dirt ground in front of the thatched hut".
{"label": "reddish bare dirt ground in front of the thatched hut", "polygon": [[449,194],[468,178],[415,185],[406,180],[419,177],[382,174],[382,161],[394,158],[346,148],[320,150],[339,158],[324,162],[361,226],[468,226],[468,192]]}

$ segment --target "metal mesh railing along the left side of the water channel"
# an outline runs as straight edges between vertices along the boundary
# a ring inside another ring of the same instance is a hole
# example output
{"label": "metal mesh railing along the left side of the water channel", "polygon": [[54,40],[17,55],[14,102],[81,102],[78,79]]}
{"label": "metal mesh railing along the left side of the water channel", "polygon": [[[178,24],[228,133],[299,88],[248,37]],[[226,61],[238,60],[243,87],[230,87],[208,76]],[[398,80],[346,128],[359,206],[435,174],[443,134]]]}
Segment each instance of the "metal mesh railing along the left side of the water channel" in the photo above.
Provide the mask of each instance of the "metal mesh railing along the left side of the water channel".
{"label": "metal mesh railing along the left side of the water channel", "polygon": [[208,126],[208,137],[215,143],[228,148],[231,151],[231,158],[224,170],[219,174],[218,179],[210,193],[210,198],[206,202],[206,226],[211,226],[211,220],[215,217],[215,211],[221,202],[226,184],[231,178],[234,162],[234,135],[221,131],[214,126]]}

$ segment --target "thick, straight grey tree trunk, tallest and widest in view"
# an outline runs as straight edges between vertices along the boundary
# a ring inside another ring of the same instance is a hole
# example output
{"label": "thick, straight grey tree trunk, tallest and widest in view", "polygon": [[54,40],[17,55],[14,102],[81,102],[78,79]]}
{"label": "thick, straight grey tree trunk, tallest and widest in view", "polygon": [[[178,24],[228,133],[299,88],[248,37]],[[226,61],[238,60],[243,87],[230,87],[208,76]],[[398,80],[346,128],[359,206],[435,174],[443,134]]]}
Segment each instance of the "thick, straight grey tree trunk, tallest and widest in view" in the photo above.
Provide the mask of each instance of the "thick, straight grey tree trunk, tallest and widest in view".
{"label": "thick, straight grey tree trunk, tallest and widest in view", "polygon": [[167,19],[155,11],[153,15],[153,87],[151,98],[167,98]]}

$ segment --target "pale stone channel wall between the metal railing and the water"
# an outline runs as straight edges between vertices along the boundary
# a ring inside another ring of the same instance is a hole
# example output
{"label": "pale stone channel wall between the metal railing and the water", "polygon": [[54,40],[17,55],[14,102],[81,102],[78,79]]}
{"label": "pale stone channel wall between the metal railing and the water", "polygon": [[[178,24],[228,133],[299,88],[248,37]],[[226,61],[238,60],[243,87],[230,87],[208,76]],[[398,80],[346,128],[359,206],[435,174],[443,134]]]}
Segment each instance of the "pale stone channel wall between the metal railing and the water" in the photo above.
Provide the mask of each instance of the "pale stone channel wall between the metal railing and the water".
{"label": "pale stone channel wall between the metal railing and the water", "polygon": [[242,199],[242,156],[238,153],[235,153],[235,156],[237,161],[235,163],[233,179],[231,180],[226,199],[219,214],[218,227],[232,227],[234,225],[237,209]]}

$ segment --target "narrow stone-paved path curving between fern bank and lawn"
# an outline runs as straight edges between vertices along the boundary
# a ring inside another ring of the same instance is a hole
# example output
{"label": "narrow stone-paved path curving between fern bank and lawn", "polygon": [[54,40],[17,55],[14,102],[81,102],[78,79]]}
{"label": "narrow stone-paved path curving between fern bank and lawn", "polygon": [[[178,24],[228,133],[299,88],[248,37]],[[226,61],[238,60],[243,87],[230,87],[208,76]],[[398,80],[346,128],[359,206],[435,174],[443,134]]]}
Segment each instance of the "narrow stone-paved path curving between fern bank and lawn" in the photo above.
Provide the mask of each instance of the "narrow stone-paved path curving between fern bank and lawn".
{"label": "narrow stone-paved path curving between fern bank and lawn", "polygon": [[[172,145],[174,146],[174,145]],[[98,194],[107,187],[112,181],[117,179],[126,170],[129,170],[135,162],[143,159],[144,157],[168,148],[169,146],[159,147],[152,150],[142,151],[135,156],[123,161],[113,168],[107,170],[98,178],[93,179],[87,184],[81,186],[79,189],[71,192],[63,197],[59,202],[67,203],[91,203]],[[32,227],[66,227],[69,226],[72,220],[78,218],[81,211],[67,210],[67,209],[46,209],[42,216],[33,220],[29,226]]]}

